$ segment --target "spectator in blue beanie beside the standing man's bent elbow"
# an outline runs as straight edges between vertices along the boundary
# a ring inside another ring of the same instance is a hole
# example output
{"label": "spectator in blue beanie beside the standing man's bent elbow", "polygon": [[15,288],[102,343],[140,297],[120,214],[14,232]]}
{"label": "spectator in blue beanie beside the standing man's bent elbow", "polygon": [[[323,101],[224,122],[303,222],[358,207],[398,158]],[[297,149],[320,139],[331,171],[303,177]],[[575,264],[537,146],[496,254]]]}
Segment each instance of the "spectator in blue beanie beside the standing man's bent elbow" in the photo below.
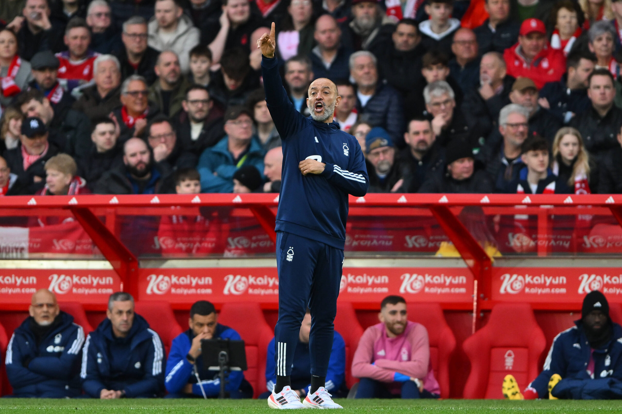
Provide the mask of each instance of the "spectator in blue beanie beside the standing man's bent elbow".
{"label": "spectator in blue beanie beside the standing man's bent elbow", "polygon": [[395,147],[386,129],[374,127],[365,137],[368,193],[395,193],[404,180],[395,164]]}

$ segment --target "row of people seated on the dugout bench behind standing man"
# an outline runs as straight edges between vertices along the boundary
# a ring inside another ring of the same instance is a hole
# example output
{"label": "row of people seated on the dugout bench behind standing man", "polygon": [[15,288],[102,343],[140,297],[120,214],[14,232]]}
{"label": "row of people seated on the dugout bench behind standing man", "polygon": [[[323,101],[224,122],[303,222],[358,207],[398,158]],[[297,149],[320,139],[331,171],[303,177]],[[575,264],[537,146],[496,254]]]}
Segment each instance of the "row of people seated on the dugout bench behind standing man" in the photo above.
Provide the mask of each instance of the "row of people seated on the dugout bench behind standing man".
{"label": "row of people seated on the dugout bench behind standing man", "polygon": [[[359,379],[345,384],[346,344],[333,336],[326,389],[348,398],[439,398],[428,331],[408,320],[406,300],[388,296],[379,304],[379,323],[369,326],[356,347],[350,369]],[[13,397],[21,398],[215,398],[221,392],[218,367],[203,364],[205,339],[244,339],[218,323],[213,304],[200,300],[190,308],[187,331],[172,340],[170,351],[146,319],[134,312],[134,298],[109,297],[106,316],[85,338],[73,316],[60,311],[55,295],[32,295],[30,316],[14,331],[6,351],[6,373]],[[603,293],[588,293],[575,326],[555,336],[541,374],[521,392],[513,375],[498,384],[504,397],[522,399],[609,399],[622,397],[622,328],[613,323]],[[292,363],[291,384],[299,397],[310,390],[307,310]],[[274,338],[266,349],[267,392],[276,381]],[[351,350],[352,352],[353,350]],[[217,351],[216,351],[217,352]],[[241,370],[226,374],[228,398],[252,398],[253,385]]]}

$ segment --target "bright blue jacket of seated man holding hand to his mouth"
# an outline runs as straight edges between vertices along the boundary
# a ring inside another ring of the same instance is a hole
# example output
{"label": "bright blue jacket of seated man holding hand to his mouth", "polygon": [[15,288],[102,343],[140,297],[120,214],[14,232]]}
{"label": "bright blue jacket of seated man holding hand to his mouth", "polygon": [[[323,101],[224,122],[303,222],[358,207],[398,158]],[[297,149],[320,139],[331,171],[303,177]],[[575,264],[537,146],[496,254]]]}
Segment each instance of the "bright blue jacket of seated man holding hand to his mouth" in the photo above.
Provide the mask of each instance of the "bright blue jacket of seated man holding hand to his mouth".
{"label": "bright blue jacket of seated man holding hand to his mouth", "polygon": [[[197,377],[195,376],[195,366],[197,369],[198,377],[201,379],[201,385],[205,390],[207,397],[217,397],[220,393],[220,379],[218,378],[218,371],[210,371],[203,368],[203,359],[199,355],[195,361],[195,365],[190,364],[186,359],[190,347],[192,347],[192,339],[195,334],[192,329],[188,329],[182,334],[177,335],[177,338],[173,339],[173,343],[170,346],[169,360],[166,363],[166,378],[164,385],[166,390],[170,393],[182,392],[183,387],[190,382],[192,385],[192,393],[203,397],[201,387],[198,385]],[[216,325],[216,331],[214,332],[214,338],[231,339],[232,341],[239,341],[239,334],[228,326]],[[233,392],[239,389],[239,385],[244,379],[244,373],[242,371],[231,371],[228,376],[228,382],[225,385],[225,390]]]}

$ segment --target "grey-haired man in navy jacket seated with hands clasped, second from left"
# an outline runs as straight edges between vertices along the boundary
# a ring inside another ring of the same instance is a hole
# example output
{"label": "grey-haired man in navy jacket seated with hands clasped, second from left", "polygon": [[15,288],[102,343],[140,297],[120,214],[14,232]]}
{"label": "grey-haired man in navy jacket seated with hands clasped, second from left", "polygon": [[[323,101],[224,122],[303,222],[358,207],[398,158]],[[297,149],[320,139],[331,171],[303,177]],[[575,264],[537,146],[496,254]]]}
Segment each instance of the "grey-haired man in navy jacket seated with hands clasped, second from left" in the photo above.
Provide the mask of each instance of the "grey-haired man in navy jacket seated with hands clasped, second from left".
{"label": "grey-haired man in navy jacket seated with hands clasped, second from left", "polygon": [[164,347],[125,292],[110,295],[100,326],[82,350],[82,388],[92,398],[153,398],[164,393]]}

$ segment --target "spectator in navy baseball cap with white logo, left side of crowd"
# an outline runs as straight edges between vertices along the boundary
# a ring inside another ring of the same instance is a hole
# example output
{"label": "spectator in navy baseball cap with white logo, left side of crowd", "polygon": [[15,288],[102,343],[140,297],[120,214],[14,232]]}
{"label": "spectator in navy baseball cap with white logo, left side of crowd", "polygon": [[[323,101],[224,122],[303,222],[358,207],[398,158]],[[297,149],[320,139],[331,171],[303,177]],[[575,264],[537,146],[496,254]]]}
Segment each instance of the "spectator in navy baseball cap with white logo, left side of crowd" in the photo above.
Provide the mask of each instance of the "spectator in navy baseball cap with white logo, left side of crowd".
{"label": "spectator in navy baseball cap with white logo, left side of crowd", "polygon": [[4,152],[4,159],[11,172],[17,175],[16,192],[34,195],[45,185],[45,162],[58,154],[57,147],[48,141],[48,130],[38,117],[22,121],[19,144]]}

